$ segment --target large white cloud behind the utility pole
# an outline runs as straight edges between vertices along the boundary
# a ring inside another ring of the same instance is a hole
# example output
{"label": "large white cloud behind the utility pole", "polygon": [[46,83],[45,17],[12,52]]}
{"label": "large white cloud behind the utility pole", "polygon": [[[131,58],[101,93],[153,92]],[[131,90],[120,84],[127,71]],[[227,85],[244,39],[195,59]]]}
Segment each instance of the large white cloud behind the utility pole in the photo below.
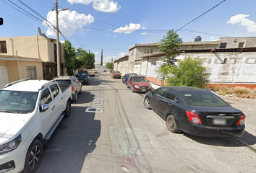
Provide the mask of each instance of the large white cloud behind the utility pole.
{"label": "large white cloud behind the utility pole", "polygon": [[[52,25],[56,26],[56,15],[51,15],[51,11],[47,14],[47,20],[51,22]],[[54,12],[55,13],[55,12]],[[70,12],[62,11],[59,12],[59,30],[65,37],[70,37],[74,35],[77,28],[82,29],[83,25],[92,23],[94,18],[91,14],[86,16],[85,14],[78,14],[75,11]],[[45,25],[43,23],[43,25]],[[48,28],[46,35],[56,36],[56,31],[54,28]]]}

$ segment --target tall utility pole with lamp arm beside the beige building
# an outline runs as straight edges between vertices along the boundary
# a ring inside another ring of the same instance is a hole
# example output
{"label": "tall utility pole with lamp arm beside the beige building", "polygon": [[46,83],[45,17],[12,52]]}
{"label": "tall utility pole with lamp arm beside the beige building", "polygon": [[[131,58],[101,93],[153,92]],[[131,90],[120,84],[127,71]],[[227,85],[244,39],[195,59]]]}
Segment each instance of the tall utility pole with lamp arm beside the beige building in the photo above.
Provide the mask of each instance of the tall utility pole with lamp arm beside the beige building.
{"label": "tall utility pole with lamp arm beside the beige building", "polygon": [[61,58],[59,50],[59,11],[64,11],[67,9],[58,10],[58,0],[55,1],[56,4],[56,51],[57,51],[57,76],[61,76]]}

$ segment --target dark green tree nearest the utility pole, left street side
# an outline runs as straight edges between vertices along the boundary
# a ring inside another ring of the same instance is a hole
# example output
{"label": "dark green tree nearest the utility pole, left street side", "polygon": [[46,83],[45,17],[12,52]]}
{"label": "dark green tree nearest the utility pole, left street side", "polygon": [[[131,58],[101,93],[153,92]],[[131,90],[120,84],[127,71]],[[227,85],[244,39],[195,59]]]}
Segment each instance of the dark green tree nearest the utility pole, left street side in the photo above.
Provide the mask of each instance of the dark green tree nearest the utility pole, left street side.
{"label": "dark green tree nearest the utility pole, left street side", "polygon": [[75,49],[72,47],[71,43],[68,40],[64,42],[64,60],[65,66],[67,68],[67,75],[74,75],[74,58],[76,56]]}

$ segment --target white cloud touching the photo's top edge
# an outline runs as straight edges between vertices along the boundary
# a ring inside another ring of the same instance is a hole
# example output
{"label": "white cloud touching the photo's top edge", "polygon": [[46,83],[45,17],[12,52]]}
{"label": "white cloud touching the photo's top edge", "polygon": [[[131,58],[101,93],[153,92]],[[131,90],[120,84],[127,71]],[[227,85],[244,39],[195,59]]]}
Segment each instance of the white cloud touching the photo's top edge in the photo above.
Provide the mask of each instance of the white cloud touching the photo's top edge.
{"label": "white cloud touching the photo's top edge", "polygon": [[85,4],[88,5],[93,2],[93,8],[100,12],[117,12],[121,6],[117,1],[113,0],[67,0],[70,4]]}

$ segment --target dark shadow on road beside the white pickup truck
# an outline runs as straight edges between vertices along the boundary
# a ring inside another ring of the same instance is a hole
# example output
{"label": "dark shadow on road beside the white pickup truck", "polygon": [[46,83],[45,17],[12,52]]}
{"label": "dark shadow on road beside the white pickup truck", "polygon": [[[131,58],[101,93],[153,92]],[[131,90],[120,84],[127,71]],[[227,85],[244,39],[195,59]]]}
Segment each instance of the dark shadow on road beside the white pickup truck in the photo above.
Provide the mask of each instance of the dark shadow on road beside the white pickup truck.
{"label": "dark shadow on road beside the white pickup truck", "polygon": [[101,121],[95,120],[95,112],[85,112],[86,107],[80,105],[92,102],[93,97],[82,92],[72,103],[69,117],[61,120],[44,146],[37,172],[81,172],[86,156],[95,150],[101,136]]}

